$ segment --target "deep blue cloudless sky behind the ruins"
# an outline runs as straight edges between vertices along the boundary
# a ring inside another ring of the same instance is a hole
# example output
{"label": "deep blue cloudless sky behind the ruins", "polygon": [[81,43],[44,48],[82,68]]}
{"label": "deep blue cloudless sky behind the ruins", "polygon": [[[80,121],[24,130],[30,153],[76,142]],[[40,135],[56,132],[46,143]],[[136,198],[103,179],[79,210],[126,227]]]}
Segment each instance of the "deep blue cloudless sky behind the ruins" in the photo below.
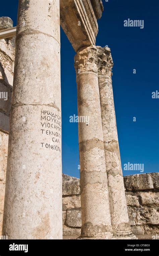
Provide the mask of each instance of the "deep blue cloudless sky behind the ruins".
{"label": "deep blue cloudless sky behind the ruins", "polygon": [[[16,25],[18,0],[1,1],[0,16]],[[113,92],[122,169],[124,163],[144,163],[144,172],[159,171],[159,1],[103,0],[96,45],[108,45],[114,61]],[[125,19],[144,20],[144,29],[125,28]],[[78,127],[74,50],[61,29],[62,168],[79,177]],[[137,70],[133,74],[133,69]],[[136,122],[133,122],[136,117]],[[124,171],[123,175],[140,173]]]}

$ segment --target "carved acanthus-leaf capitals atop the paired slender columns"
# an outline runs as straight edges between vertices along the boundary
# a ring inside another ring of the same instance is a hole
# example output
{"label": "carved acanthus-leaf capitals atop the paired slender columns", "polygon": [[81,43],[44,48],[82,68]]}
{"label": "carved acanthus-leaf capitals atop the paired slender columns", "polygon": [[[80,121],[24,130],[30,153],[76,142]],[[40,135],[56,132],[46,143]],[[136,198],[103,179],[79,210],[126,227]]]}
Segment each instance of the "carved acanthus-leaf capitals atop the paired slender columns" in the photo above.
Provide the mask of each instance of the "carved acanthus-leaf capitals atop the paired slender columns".
{"label": "carved acanthus-leaf capitals atop the paired slender columns", "polygon": [[95,72],[99,75],[112,75],[113,60],[110,48],[91,45],[74,57],[76,74]]}

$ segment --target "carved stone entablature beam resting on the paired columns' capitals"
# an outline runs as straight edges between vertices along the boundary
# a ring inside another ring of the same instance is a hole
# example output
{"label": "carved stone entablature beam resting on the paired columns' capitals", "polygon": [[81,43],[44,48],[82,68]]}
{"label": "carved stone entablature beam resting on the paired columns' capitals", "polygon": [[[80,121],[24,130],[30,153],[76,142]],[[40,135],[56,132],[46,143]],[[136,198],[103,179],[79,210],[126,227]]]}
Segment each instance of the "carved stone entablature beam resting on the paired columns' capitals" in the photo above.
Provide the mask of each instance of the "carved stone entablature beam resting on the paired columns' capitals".
{"label": "carved stone entablature beam resting on the paired columns' capitals", "polygon": [[96,44],[102,12],[101,0],[60,0],[61,27],[76,52]]}

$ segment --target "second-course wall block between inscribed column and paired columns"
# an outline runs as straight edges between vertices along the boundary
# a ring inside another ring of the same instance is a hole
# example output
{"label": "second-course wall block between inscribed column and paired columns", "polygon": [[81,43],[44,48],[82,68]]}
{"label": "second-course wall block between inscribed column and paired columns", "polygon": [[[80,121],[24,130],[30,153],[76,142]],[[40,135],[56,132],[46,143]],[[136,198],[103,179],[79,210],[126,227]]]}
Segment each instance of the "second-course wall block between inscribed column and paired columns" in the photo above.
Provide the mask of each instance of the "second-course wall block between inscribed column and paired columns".
{"label": "second-course wall block between inscribed column and paired columns", "polygon": [[81,207],[81,195],[66,196],[62,198],[62,210],[71,210]]}

